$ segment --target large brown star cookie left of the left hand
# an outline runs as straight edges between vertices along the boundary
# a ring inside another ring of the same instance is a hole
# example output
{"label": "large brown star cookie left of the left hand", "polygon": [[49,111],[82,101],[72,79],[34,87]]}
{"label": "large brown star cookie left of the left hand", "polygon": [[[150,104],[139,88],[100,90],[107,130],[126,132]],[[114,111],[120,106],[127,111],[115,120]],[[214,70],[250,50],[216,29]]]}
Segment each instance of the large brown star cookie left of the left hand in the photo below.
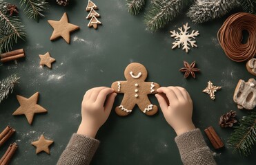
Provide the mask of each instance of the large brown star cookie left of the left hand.
{"label": "large brown star cookie left of the left hand", "polygon": [[17,95],[17,100],[21,106],[12,115],[26,115],[28,123],[31,125],[35,113],[47,112],[46,109],[37,104],[38,97],[39,92],[33,94],[30,98]]}

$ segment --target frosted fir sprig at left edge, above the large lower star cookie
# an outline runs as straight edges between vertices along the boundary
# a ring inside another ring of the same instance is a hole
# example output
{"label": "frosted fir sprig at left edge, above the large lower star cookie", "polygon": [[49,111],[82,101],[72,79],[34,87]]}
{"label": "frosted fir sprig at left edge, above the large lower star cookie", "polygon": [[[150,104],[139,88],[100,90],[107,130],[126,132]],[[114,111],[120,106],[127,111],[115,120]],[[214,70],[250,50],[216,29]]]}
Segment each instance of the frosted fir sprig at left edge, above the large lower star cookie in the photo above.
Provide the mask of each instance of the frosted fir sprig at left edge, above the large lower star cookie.
{"label": "frosted fir sprig at left edge, above the large lower star cookie", "polygon": [[0,102],[7,98],[9,93],[12,93],[15,83],[18,83],[17,80],[19,80],[19,77],[16,74],[12,74],[0,81]]}

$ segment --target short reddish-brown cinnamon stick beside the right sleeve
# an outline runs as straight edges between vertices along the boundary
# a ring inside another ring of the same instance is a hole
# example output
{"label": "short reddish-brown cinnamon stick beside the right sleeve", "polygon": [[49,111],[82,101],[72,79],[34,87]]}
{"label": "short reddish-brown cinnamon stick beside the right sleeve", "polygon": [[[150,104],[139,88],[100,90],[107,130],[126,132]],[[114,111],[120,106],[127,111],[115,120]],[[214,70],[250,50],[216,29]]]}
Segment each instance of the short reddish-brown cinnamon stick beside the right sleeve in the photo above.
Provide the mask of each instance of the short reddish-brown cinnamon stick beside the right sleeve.
{"label": "short reddish-brown cinnamon stick beside the right sleeve", "polygon": [[224,146],[224,143],[219,138],[215,130],[213,129],[213,126],[209,126],[207,129],[204,130],[206,135],[208,136],[211,144],[213,144],[213,147],[215,149],[221,148]]}

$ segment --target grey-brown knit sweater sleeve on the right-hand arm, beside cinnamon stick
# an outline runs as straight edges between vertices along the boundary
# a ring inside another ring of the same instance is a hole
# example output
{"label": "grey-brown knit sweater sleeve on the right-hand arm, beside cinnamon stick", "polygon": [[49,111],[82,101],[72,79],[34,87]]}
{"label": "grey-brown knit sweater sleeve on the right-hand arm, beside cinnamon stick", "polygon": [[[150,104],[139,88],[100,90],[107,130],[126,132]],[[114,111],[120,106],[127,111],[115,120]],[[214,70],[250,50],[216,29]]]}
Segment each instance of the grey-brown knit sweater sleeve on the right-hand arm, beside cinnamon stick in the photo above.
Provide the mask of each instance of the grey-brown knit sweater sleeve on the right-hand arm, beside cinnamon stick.
{"label": "grey-brown knit sweater sleeve on the right-hand arm, beside cinnamon stick", "polygon": [[181,160],[184,164],[216,164],[213,153],[206,145],[199,129],[194,129],[175,137]]}

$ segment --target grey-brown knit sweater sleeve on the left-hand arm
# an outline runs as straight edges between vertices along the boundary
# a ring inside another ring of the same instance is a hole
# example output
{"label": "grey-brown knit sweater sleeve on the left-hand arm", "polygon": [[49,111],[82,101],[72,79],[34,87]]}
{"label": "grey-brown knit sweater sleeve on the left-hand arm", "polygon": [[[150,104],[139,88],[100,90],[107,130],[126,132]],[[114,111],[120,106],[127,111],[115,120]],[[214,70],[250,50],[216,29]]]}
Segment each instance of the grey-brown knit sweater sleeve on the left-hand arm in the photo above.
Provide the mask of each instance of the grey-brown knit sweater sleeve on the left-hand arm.
{"label": "grey-brown knit sweater sleeve on the left-hand arm", "polygon": [[61,154],[58,165],[88,165],[99,146],[99,140],[74,133]]}

